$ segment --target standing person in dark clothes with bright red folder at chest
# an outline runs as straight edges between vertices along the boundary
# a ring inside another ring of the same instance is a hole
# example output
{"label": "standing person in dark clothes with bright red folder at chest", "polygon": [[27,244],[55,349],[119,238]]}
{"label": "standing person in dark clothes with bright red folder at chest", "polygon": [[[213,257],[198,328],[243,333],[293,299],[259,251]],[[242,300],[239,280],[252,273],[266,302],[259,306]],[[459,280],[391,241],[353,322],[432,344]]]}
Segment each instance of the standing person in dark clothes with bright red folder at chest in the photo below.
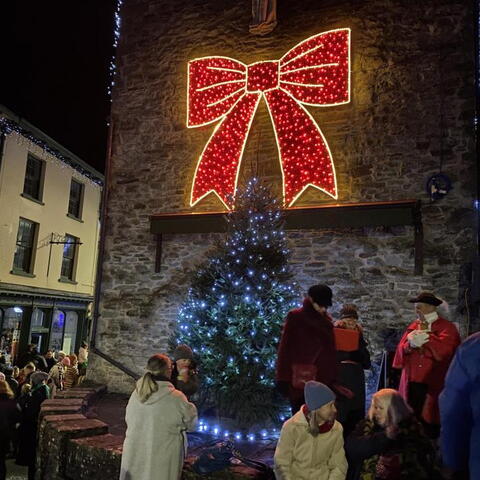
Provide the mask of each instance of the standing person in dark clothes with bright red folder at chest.
{"label": "standing person in dark clothes with bright red folder at chest", "polygon": [[371,367],[363,328],[358,323],[355,305],[347,304],[340,310],[340,320],[334,323],[337,347],[338,382],[353,392],[353,397],[337,400],[337,420],[347,437],[365,416],[365,373]]}

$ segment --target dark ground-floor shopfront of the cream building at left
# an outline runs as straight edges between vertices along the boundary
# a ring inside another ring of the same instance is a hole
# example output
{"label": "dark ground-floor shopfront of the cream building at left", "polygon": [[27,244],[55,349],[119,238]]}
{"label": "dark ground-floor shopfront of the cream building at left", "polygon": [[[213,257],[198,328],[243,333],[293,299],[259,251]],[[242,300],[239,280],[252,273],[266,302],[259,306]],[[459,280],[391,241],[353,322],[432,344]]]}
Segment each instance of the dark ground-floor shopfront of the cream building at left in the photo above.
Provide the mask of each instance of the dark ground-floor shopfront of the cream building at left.
{"label": "dark ground-floor shopfront of the cream building at left", "polygon": [[30,343],[42,354],[48,349],[77,353],[87,335],[92,298],[32,290],[0,287],[0,352],[8,355],[12,364]]}

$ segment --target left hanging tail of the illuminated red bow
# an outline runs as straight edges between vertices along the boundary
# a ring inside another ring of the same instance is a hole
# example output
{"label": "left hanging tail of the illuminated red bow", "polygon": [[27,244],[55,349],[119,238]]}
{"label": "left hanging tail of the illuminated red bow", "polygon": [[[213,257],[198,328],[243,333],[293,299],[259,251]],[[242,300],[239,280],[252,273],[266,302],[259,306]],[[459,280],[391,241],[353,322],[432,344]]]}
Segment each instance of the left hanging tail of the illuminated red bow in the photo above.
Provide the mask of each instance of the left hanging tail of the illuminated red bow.
{"label": "left hanging tail of the illuminated red bow", "polygon": [[260,98],[258,93],[243,95],[213,131],[197,164],[192,206],[214,192],[232,208],[243,149]]}

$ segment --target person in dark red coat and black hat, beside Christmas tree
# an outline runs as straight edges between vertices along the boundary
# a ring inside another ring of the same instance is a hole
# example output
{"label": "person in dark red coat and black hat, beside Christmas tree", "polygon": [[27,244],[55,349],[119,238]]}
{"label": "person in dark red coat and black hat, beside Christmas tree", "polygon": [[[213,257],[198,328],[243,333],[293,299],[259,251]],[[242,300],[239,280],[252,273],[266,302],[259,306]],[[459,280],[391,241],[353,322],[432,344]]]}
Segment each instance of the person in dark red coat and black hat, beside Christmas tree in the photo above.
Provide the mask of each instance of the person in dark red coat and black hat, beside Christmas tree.
{"label": "person in dark red coat and black hat, beside Christmas tree", "polygon": [[332,290],[327,285],[309,288],[303,307],[288,313],[278,348],[276,382],[290,400],[292,413],[305,403],[306,382],[316,380],[333,387],[337,376],[332,318]]}

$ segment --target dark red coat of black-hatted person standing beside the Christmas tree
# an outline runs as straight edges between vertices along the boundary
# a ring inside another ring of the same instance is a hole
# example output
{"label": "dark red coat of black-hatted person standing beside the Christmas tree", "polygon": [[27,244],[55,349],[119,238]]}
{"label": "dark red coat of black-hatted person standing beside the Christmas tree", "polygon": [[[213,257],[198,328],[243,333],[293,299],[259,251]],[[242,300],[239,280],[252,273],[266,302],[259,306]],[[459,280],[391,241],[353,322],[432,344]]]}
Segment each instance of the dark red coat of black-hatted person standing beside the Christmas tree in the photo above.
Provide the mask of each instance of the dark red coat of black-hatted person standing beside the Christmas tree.
{"label": "dark red coat of black-hatted person standing beside the Christmas tree", "polygon": [[278,348],[278,382],[290,384],[289,397],[295,401],[303,397],[303,390],[292,387],[293,364],[315,364],[315,380],[332,387],[337,376],[333,323],[328,314],[320,314],[310,300],[303,307],[288,313]]}

